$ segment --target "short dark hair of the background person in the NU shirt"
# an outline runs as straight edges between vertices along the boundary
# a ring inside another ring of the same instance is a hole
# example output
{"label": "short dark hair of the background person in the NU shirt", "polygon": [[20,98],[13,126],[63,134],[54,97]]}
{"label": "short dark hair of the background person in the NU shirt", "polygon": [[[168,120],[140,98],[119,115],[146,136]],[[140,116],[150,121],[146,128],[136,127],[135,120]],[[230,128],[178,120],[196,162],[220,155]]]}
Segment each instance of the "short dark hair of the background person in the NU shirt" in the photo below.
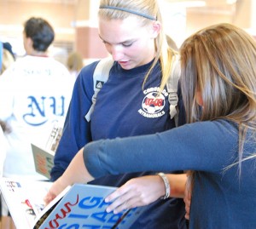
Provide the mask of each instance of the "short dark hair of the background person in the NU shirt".
{"label": "short dark hair of the background person in the NU shirt", "polygon": [[33,49],[45,52],[55,38],[55,31],[49,22],[42,18],[32,17],[24,25],[26,37],[32,38]]}

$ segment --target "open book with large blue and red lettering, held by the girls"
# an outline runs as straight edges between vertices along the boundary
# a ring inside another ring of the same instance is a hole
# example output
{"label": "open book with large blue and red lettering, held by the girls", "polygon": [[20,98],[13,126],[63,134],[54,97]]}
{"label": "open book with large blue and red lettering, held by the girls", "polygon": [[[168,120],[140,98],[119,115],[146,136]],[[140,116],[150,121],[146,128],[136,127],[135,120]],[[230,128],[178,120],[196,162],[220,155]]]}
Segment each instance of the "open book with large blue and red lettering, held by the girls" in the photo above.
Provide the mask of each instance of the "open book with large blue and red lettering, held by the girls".
{"label": "open book with large blue and red lettering, held by the girls", "polygon": [[1,180],[3,198],[17,229],[127,229],[143,213],[143,207],[107,213],[110,203],[104,198],[116,187],[85,184],[67,187],[45,207],[50,185],[47,181]]}

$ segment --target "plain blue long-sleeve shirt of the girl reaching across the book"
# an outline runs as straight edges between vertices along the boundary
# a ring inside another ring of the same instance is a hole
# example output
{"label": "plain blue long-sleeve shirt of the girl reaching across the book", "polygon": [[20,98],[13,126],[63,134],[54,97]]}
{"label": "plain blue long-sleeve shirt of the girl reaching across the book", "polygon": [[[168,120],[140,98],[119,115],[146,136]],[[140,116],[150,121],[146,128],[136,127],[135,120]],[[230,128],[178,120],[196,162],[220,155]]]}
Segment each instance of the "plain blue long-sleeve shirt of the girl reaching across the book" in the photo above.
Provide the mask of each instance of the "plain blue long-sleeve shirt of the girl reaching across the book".
{"label": "plain blue long-sleeve shirt of the girl reaching across the book", "polygon": [[[243,157],[255,154],[247,134]],[[95,177],[144,170],[195,170],[189,228],[256,228],[256,157],[238,160],[238,129],[225,120],[186,124],[156,135],[99,140],[84,148]],[[234,166],[229,166],[234,164]],[[241,173],[240,173],[241,172]]]}

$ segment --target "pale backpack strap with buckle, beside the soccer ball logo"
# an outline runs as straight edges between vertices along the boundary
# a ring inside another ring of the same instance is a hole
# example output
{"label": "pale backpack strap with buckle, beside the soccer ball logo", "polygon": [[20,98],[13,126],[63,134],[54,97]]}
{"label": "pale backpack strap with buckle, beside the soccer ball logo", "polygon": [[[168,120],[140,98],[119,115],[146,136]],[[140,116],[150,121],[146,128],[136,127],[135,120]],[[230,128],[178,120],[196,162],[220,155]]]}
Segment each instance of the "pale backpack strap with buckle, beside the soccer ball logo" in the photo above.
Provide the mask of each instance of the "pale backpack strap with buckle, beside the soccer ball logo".
{"label": "pale backpack strap with buckle, beside the soccer ball logo", "polygon": [[171,119],[175,117],[175,123],[177,125],[177,84],[178,80],[181,75],[181,69],[180,69],[180,62],[179,62],[179,56],[175,56],[175,59],[172,63],[172,72],[171,76],[168,78],[168,81],[166,83],[166,88],[169,93],[168,100],[170,103],[170,116]]}

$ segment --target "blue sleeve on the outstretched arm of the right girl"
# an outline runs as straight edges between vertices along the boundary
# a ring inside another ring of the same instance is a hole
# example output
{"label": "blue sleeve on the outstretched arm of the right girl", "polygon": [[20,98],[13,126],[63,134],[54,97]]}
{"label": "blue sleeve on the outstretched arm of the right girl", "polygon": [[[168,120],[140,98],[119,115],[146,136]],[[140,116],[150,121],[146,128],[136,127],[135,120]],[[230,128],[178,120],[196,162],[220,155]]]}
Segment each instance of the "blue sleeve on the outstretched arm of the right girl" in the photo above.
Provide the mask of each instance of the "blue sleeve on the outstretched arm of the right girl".
{"label": "blue sleeve on the outstretched arm of the right girl", "polygon": [[84,163],[94,177],[149,170],[215,173],[234,162],[236,141],[237,129],[227,122],[185,124],[155,135],[92,142],[84,147]]}

